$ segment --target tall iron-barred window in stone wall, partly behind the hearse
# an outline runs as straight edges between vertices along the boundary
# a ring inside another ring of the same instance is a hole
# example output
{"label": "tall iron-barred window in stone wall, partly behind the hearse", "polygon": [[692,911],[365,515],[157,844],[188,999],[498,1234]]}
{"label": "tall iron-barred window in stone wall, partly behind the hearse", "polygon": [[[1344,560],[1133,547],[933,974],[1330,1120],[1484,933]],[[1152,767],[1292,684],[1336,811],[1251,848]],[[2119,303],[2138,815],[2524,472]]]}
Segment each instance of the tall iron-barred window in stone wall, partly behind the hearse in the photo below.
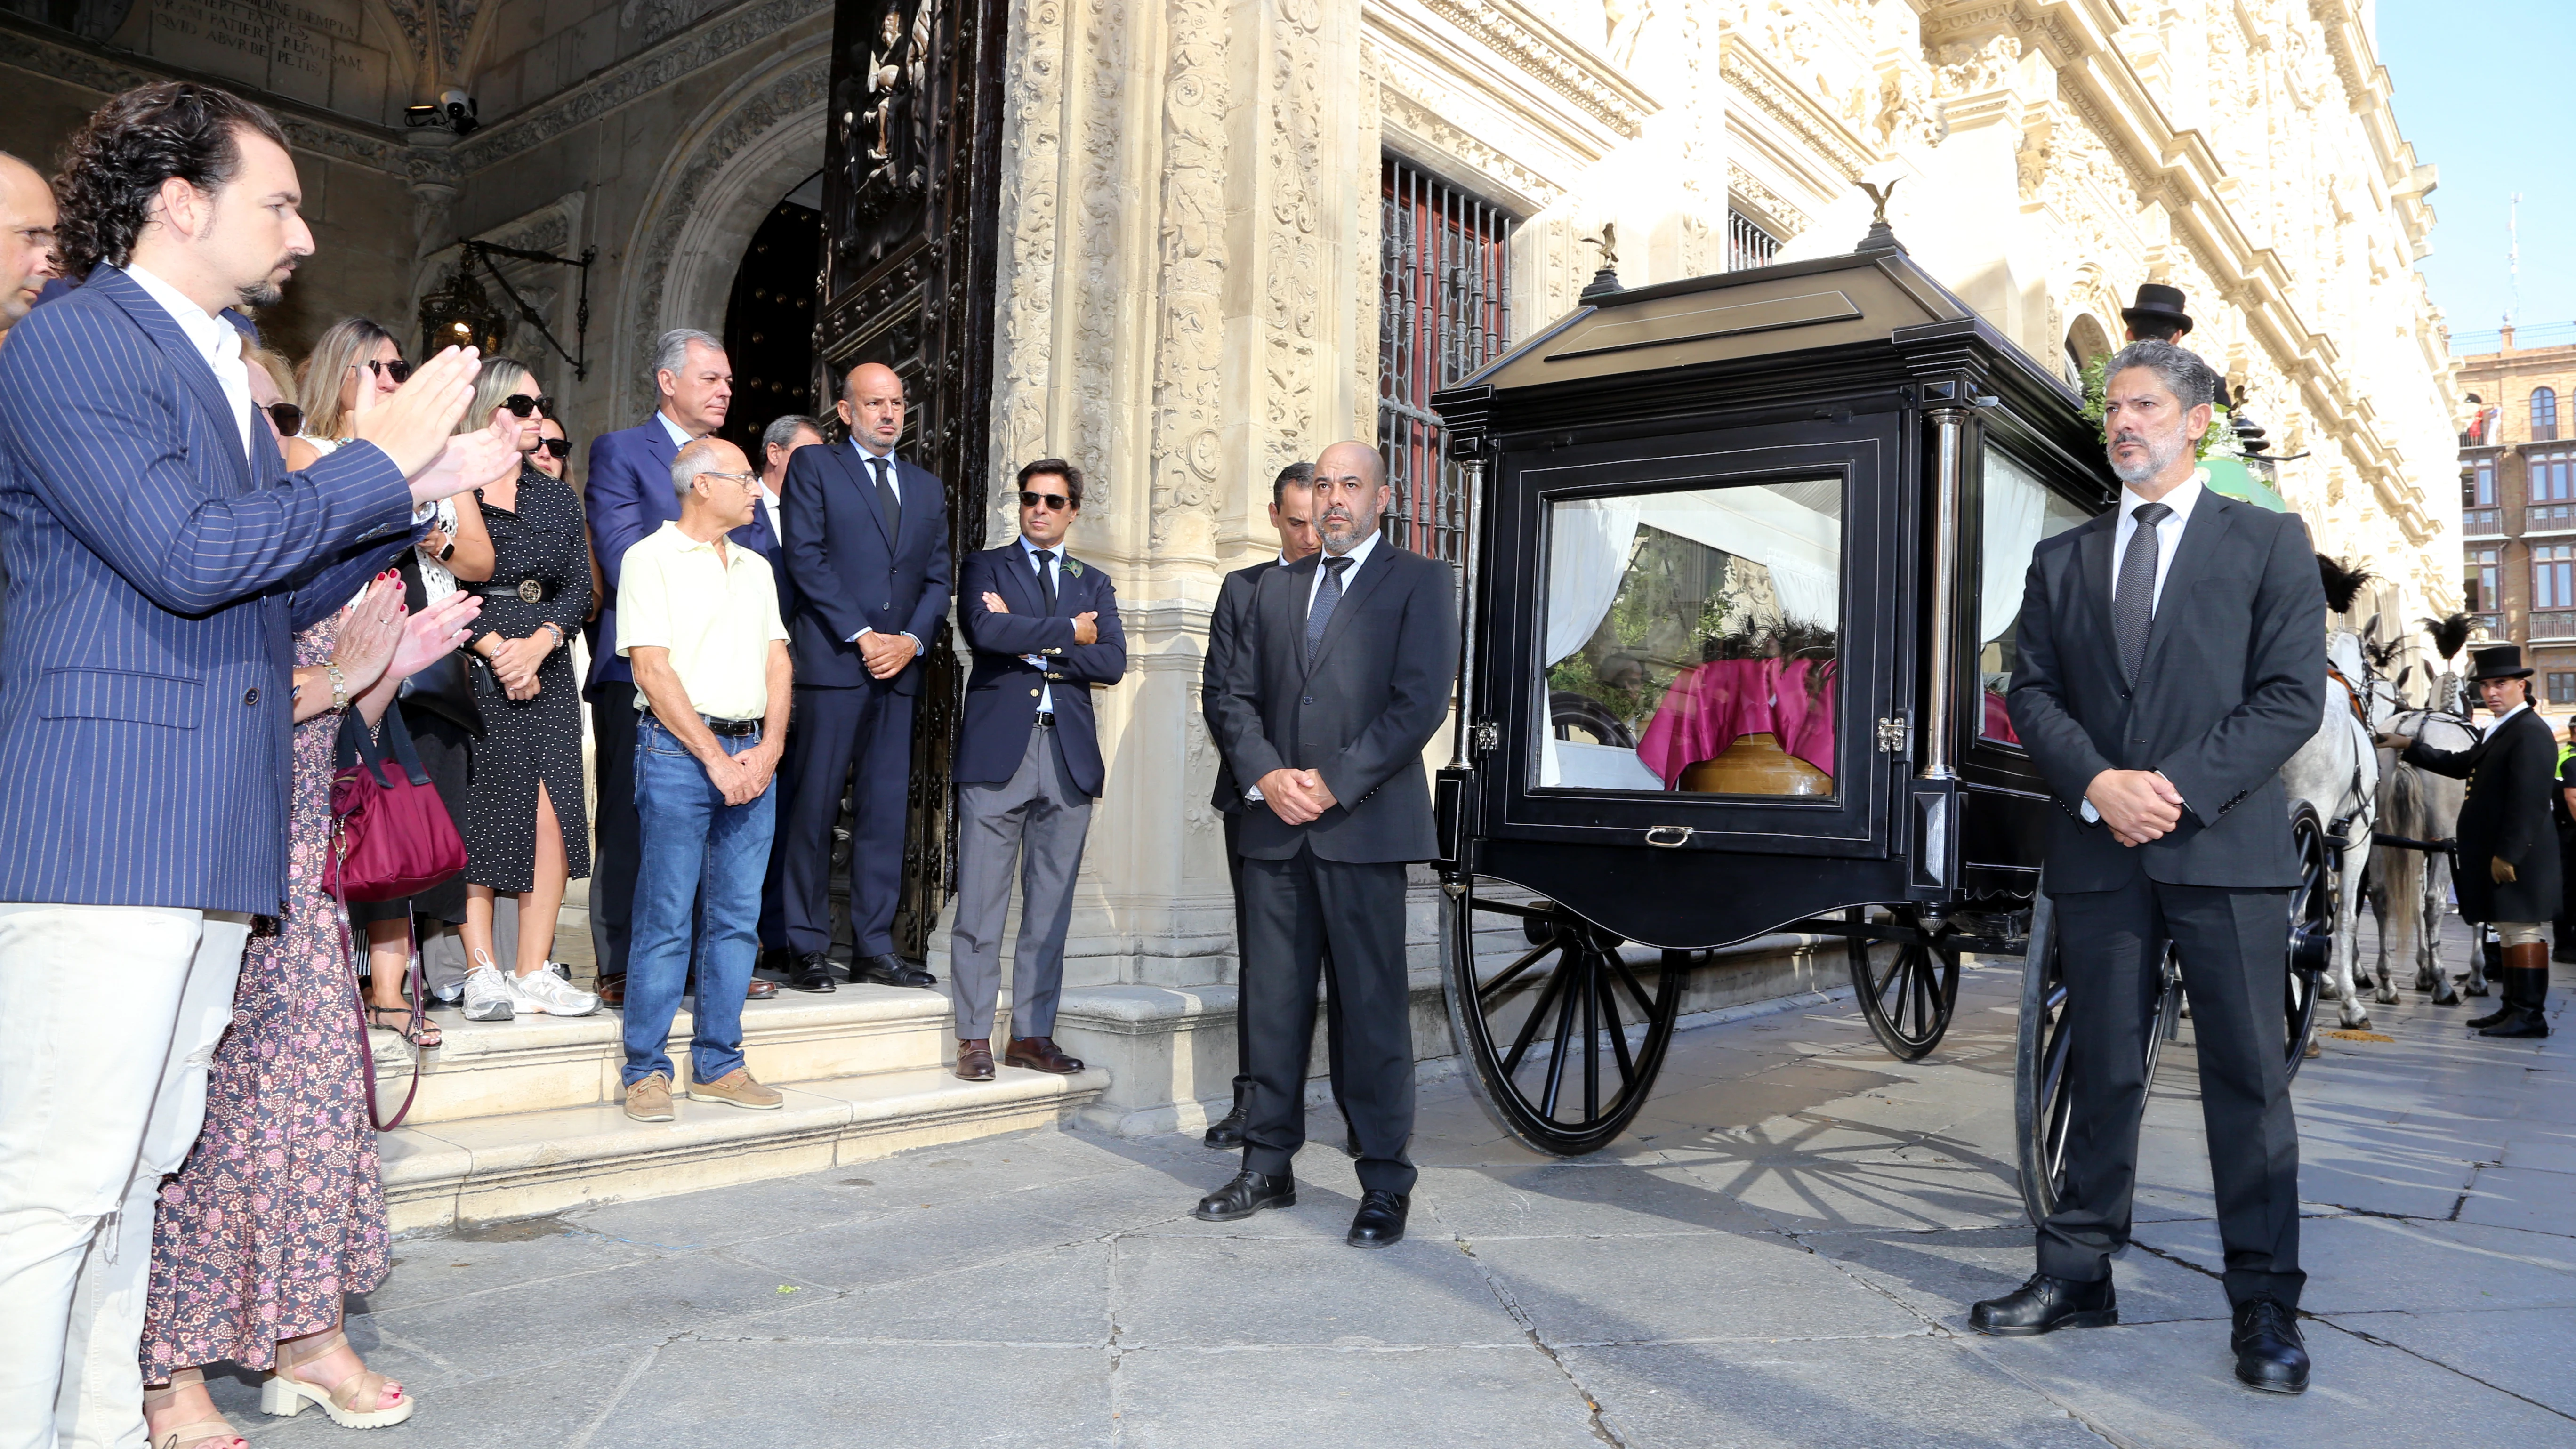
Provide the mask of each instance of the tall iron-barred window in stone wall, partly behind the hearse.
{"label": "tall iron-barred window in stone wall, partly behind the hearse", "polygon": [[1466,469],[1448,459],[1432,392],[1502,356],[1512,330],[1512,219],[1396,157],[1386,157],[1378,201],[1378,451],[1394,492],[1386,529],[1417,554],[1458,562]]}

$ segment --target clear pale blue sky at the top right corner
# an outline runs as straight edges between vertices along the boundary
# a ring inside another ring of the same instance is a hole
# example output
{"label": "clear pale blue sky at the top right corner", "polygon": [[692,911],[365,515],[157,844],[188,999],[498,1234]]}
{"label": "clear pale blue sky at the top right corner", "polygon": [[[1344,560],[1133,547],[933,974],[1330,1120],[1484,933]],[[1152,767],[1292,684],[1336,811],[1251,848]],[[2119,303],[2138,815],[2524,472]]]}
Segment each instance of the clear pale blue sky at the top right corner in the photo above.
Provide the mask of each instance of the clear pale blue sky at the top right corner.
{"label": "clear pale blue sky at the top right corner", "polygon": [[[2491,351],[2512,307],[2504,222],[2522,191],[2522,330],[2576,343],[2576,186],[2568,183],[2571,0],[2378,0],[2398,129],[2442,168],[2432,255],[2416,263],[2458,351]],[[2519,126],[2519,134],[2514,129]]]}

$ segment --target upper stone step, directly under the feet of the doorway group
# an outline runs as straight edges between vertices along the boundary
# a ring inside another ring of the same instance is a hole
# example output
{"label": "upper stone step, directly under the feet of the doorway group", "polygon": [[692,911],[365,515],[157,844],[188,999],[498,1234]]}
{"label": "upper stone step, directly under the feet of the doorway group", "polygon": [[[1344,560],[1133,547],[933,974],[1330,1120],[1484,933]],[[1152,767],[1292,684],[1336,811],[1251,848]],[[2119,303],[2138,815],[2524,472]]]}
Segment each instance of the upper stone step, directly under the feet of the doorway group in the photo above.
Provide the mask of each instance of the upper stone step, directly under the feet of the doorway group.
{"label": "upper stone step, directly under the feet of the doorway group", "polygon": [[[623,1016],[616,1011],[518,1021],[466,1021],[459,1011],[433,1011],[430,1021],[446,1042],[422,1062],[407,1127],[626,1101]],[[680,1011],[667,1047],[680,1085],[688,1085],[693,1031],[690,1013]],[[374,1031],[371,1042],[376,1101],[389,1116],[412,1080],[410,1047],[392,1031]],[[945,982],[940,990],[842,982],[829,995],[781,993],[775,1000],[742,1006],[742,1057],[755,1078],[773,1085],[935,1070],[953,1055]]]}

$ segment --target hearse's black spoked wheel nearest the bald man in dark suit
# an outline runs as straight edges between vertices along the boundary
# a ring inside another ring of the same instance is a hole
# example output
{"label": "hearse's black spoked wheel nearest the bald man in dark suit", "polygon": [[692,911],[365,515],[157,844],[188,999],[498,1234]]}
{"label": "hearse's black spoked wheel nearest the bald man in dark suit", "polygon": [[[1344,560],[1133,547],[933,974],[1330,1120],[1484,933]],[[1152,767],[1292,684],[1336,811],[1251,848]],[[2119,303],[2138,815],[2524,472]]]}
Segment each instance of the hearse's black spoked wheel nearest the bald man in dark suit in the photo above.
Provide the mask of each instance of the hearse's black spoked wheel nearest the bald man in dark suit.
{"label": "hearse's black spoked wheel nearest the bald man in dark suit", "polygon": [[1620,936],[1556,902],[1499,892],[1512,887],[1468,877],[1445,884],[1440,902],[1450,1031],[1468,1085],[1530,1147],[1597,1152],[1664,1067],[1692,954],[1631,962]]}

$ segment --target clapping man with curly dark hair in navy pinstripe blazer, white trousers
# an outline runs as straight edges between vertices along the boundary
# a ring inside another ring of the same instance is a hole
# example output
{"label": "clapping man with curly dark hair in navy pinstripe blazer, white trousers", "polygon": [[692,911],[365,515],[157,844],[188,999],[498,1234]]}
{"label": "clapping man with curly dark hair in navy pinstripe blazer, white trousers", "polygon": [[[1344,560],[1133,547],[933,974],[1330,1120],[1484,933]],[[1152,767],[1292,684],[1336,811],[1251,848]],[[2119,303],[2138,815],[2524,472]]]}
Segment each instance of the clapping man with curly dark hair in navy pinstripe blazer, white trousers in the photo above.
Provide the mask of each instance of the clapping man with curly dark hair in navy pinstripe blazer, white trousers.
{"label": "clapping man with curly dark hair in navy pinstripe blazer, white trousers", "polygon": [[216,312],[278,299],[299,201],[268,113],[129,90],[67,147],[88,281],[0,348],[0,1449],[142,1441],[152,1196],[286,900],[294,629],[507,451],[448,438],[451,351],[286,472]]}

